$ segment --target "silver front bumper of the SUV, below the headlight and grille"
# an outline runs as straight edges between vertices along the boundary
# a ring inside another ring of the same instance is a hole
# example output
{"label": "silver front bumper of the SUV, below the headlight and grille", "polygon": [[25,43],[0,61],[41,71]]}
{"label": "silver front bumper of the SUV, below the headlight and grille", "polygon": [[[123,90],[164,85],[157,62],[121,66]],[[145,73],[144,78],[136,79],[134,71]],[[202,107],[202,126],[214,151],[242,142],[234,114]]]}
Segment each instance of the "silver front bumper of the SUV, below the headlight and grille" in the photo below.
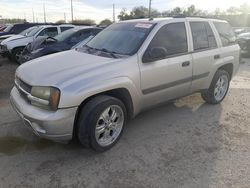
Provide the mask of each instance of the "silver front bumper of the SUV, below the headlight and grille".
{"label": "silver front bumper of the SUV, below the headlight and grille", "polygon": [[24,124],[36,135],[53,141],[72,139],[77,107],[43,110],[29,104],[16,87],[11,91],[10,102]]}

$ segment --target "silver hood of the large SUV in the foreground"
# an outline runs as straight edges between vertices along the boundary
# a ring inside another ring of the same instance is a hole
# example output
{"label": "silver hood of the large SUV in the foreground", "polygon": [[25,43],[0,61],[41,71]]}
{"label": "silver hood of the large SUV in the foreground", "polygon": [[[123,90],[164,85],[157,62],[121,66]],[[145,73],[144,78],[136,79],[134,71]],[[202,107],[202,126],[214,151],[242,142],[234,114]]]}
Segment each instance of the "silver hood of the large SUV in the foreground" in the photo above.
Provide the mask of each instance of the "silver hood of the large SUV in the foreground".
{"label": "silver hood of the large SUV in the foreground", "polygon": [[61,88],[72,80],[102,79],[112,69],[108,64],[113,65],[117,61],[120,59],[69,50],[29,61],[17,69],[16,75],[30,85]]}

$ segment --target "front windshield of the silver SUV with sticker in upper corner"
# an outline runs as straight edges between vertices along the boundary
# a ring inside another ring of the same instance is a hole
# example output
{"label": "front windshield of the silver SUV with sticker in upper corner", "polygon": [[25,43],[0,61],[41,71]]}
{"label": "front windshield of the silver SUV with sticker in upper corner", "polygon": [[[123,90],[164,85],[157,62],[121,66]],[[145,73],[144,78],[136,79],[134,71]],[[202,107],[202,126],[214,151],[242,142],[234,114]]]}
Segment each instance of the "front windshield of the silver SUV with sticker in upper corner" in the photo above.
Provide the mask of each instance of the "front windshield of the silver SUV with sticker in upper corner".
{"label": "front windshield of the silver SUV with sticker in upper corner", "polygon": [[109,26],[85,46],[120,55],[133,55],[138,51],[153,23],[125,22]]}

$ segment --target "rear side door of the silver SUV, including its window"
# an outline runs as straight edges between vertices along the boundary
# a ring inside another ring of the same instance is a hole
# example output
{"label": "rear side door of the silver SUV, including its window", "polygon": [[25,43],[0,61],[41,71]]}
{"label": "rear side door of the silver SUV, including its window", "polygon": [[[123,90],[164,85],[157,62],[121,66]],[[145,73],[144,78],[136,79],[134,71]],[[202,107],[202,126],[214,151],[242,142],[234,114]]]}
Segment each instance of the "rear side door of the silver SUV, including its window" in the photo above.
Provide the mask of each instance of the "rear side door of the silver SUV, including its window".
{"label": "rear side door of the silver SUV, including its window", "polygon": [[209,22],[190,21],[193,41],[192,92],[206,89],[212,66],[221,61],[220,49]]}

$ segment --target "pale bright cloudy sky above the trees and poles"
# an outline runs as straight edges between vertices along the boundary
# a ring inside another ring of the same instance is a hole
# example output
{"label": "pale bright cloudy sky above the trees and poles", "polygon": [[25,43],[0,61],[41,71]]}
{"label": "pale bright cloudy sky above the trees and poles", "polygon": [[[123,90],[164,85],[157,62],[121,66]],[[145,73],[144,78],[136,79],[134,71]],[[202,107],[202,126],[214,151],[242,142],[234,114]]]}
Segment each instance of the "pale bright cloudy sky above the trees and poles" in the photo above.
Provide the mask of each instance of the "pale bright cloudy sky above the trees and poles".
{"label": "pale bright cloudy sky above the trees and poles", "polygon": [[[116,15],[122,8],[131,10],[135,6],[148,7],[149,0],[73,0],[75,19],[94,19],[99,22],[105,18],[112,19],[112,4],[115,4]],[[230,6],[240,6],[248,0],[152,0],[152,8],[160,11],[169,10],[176,6],[187,7],[194,4],[197,8],[213,11],[216,8],[225,10]],[[70,0],[0,0],[0,15],[3,18],[26,18],[43,21],[43,3],[46,8],[47,21],[71,19]]]}

